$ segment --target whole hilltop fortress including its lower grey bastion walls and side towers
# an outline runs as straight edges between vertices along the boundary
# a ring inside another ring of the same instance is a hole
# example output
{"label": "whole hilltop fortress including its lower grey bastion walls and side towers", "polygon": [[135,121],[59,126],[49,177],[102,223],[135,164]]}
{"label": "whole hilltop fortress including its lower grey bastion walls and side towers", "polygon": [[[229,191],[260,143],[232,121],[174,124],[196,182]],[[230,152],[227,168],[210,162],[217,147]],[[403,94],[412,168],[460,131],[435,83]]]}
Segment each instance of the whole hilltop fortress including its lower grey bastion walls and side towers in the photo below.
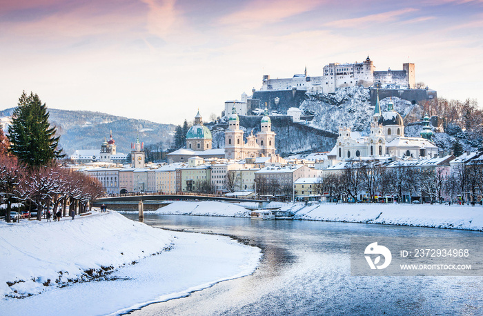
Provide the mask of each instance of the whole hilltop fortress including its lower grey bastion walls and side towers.
{"label": "whole hilltop fortress including its lower grey bastion walls and side towers", "polygon": [[268,110],[284,115],[290,108],[299,108],[308,95],[331,95],[338,89],[351,87],[368,89],[371,106],[375,106],[377,94],[381,99],[399,97],[413,104],[437,99],[435,90],[416,85],[414,63],[403,63],[402,70],[375,71],[373,61],[367,57],[362,63],[329,63],[321,76],[311,77],[306,69],[291,78],[270,79],[264,75],[262,88],[254,88],[252,97],[242,95],[242,101],[227,101],[224,115],[230,113],[233,105],[239,115],[255,114],[252,111],[265,103]]}

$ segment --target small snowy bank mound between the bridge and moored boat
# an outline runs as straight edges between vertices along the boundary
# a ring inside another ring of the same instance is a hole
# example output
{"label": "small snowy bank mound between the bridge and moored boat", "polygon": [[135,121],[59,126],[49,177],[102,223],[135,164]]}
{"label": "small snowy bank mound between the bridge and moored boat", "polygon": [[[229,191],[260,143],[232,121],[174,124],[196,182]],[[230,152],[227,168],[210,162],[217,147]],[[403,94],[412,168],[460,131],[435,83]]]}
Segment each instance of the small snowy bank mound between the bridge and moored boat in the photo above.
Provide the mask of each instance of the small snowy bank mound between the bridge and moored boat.
{"label": "small snowy bank mound between the bridge and moored boat", "polygon": [[226,217],[250,217],[250,210],[230,203],[215,201],[175,201],[144,213],[169,214],[169,215],[200,215],[200,216],[226,216]]}

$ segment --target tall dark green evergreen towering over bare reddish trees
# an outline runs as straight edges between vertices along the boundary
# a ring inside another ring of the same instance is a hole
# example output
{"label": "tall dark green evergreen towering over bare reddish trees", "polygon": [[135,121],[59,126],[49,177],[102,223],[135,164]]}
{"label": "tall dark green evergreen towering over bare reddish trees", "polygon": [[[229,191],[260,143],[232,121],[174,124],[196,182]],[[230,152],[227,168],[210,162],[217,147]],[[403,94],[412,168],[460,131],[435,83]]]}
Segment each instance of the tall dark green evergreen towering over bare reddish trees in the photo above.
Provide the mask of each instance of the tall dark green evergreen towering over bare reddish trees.
{"label": "tall dark green evergreen towering over bare reddish trees", "polygon": [[23,91],[18,107],[13,112],[12,124],[8,126],[10,152],[30,167],[39,167],[55,158],[61,158],[57,131],[51,127],[46,103],[38,95]]}

